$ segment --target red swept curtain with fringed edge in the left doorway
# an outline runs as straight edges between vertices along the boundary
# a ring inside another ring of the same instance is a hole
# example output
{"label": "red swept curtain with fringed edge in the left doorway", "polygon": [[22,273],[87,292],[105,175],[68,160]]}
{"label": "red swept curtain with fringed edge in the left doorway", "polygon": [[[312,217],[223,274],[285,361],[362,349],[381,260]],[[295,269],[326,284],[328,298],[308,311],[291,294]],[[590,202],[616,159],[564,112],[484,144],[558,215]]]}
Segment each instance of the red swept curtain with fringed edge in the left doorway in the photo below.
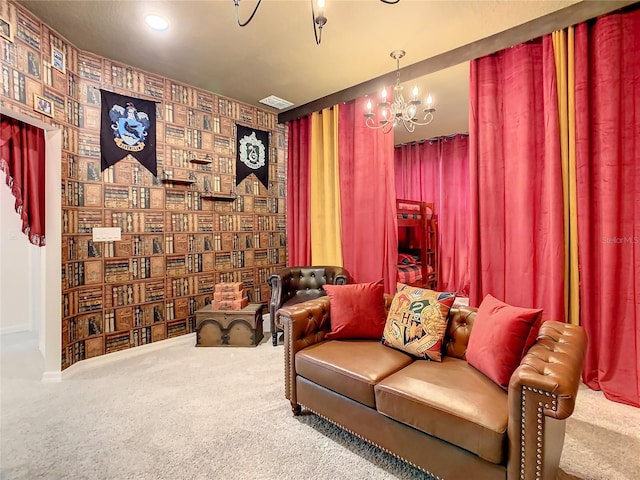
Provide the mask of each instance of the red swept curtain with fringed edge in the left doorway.
{"label": "red swept curtain with fringed edge in the left doorway", "polygon": [[45,245],[44,130],[14,118],[0,117],[0,170],[16,199],[22,232],[29,241]]}

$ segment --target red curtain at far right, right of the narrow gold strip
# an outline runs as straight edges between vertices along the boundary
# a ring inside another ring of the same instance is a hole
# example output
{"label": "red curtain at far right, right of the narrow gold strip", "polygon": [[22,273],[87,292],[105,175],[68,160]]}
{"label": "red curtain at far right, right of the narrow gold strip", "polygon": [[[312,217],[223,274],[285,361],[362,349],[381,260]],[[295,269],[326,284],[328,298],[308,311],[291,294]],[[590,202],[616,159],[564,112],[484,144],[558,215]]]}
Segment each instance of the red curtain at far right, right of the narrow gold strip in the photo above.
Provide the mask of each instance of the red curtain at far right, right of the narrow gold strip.
{"label": "red curtain at far right, right of the narrow gold strip", "polygon": [[583,381],[640,406],[640,10],[575,34]]}

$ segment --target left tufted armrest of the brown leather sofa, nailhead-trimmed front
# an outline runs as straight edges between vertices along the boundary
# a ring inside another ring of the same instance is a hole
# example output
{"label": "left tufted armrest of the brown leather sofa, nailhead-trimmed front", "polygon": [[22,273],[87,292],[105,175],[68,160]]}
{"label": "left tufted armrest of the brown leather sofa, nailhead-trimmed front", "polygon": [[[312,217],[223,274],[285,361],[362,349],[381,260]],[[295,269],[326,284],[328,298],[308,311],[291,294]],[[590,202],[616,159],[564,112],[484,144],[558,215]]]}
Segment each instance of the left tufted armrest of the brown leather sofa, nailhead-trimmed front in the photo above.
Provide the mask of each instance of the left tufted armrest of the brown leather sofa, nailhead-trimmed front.
{"label": "left tufted armrest of the brown leather sofa, nailhead-trimmed front", "polygon": [[284,329],[285,395],[294,414],[300,413],[296,394],[296,353],[324,339],[331,330],[329,297],[324,296],[278,310]]}

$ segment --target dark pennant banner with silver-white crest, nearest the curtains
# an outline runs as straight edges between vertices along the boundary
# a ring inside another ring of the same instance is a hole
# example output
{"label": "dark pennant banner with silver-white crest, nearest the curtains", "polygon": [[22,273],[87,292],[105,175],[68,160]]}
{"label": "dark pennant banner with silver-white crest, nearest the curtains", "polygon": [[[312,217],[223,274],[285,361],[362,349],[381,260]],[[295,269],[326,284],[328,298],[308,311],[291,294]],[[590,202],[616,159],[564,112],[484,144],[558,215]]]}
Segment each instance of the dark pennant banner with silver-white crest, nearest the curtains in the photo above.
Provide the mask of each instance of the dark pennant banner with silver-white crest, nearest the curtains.
{"label": "dark pennant banner with silver-white crest, nearest the curtains", "polygon": [[236,124],[236,185],[252,173],[269,188],[269,132]]}

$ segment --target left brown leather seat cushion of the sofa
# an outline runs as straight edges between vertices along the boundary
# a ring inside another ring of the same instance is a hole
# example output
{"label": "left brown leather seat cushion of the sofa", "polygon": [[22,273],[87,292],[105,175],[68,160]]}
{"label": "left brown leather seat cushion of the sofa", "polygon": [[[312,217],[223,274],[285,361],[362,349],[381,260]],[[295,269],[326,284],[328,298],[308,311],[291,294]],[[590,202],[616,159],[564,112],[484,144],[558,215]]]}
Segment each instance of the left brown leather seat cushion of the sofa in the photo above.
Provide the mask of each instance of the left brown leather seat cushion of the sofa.
{"label": "left brown leather seat cushion of the sofa", "polygon": [[296,373],[375,408],[373,387],[413,359],[373,340],[327,340],[296,354]]}

